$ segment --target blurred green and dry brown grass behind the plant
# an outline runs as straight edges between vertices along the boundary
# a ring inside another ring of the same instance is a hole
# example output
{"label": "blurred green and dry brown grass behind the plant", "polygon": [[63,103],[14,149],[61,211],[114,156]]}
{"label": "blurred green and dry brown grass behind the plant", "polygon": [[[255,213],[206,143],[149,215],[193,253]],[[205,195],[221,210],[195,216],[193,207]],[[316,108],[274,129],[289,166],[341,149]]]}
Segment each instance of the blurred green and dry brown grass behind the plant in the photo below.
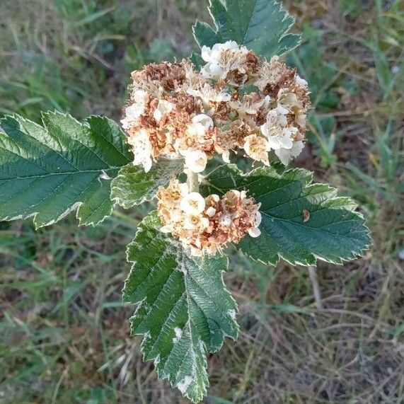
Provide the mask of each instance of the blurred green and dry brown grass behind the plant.
{"label": "blurred green and dry brown grass behind the plant", "polygon": [[[304,267],[235,253],[226,284],[241,335],[209,357],[207,403],[404,401],[404,2],[287,1],[304,43],[290,62],[316,112],[298,166],[359,202],[374,247]],[[129,71],[187,55],[205,2],[3,0],[0,113],[120,116]],[[144,208],[146,209],[146,207]],[[144,210],[145,211],[145,210]],[[185,403],[143,363],[120,290],[144,211],[96,229],[73,218],[0,224],[0,403]]]}

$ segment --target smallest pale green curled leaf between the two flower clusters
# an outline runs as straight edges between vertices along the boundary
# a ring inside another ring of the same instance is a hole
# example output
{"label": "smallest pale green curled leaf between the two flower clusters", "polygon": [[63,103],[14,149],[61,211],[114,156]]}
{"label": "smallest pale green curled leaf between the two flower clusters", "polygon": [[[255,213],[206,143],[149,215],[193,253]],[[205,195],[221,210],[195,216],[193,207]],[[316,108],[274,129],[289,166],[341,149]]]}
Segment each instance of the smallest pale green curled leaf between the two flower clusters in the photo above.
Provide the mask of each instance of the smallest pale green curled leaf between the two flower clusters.
{"label": "smallest pale green curled leaf between the two flower clusters", "polygon": [[181,159],[159,159],[148,173],[142,167],[129,164],[122,167],[112,180],[111,199],[125,209],[152,200],[158,188],[168,185],[171,178],[183,169],[184,161]]}

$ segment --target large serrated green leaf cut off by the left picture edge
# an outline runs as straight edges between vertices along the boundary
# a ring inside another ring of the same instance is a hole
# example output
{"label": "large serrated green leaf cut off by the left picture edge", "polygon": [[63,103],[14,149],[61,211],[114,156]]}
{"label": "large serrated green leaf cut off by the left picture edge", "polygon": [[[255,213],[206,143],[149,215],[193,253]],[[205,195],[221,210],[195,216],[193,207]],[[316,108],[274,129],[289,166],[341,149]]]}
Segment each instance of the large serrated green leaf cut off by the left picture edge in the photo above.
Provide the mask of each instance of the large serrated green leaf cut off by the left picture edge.
{"label": "large serrated green leaf cut off by the left picture edge", "polygon": [[132,160],[125,134],[105,117],[47,112],[42,122],[0,121],[0,220],[34,217],[39,228],[78,207],[81,225],[98,224],[114,206],[111,178]]}

